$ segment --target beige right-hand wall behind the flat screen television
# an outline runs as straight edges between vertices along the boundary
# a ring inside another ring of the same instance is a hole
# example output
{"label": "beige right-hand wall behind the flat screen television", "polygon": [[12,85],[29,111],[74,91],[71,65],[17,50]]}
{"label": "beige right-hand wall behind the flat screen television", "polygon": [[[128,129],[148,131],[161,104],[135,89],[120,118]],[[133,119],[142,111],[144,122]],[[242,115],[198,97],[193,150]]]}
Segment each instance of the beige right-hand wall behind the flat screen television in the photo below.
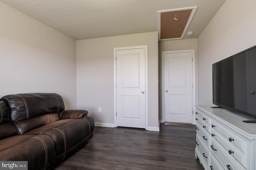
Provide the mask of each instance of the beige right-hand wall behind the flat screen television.
{"label": "beige right-hand wall behind the flat screen television", "polygon": [[256,45],[256,1],[226,0],[198,38],[198,104],[212,104],[212,64]]}

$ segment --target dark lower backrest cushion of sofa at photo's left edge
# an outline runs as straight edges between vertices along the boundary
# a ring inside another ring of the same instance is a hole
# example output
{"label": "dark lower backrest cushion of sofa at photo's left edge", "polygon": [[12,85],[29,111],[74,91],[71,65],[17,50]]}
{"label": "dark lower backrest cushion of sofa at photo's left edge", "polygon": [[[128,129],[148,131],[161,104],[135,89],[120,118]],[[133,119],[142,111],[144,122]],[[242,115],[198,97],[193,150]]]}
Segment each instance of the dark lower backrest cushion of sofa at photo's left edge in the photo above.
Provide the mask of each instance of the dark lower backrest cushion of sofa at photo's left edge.
{"label": "dark lower backrest cushion of sofa at photo's left edge", "polygon": [[10,122],[0,124],[0,140],[18,134],[17,128]]}

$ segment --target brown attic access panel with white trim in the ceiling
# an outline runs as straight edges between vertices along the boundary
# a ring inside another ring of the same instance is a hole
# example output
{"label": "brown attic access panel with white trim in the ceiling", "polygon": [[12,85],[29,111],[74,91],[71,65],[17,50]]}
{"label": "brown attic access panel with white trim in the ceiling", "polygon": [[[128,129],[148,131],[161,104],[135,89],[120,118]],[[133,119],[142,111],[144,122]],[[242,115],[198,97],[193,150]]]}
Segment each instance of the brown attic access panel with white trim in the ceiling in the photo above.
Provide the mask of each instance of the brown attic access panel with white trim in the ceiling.
{"label": "brown attic access panel with white trim in the ceiling", "polygon": [[182,39],[197,7],[158,11],[158,40]]}

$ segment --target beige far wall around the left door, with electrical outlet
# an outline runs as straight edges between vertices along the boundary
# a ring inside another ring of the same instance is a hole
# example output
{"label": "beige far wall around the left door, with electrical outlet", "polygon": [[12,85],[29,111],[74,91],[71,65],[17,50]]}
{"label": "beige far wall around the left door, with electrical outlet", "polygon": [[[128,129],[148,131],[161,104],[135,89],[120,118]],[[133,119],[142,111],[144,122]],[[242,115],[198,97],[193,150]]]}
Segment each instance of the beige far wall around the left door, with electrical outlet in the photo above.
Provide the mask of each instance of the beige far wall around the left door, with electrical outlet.
{"label": "beige far wall around the left door, with electrical outlet", "polygon": [[137,45],[148,45],[148,126],[158,128],[158,32],[76,42],[77,108],[96,125],[114,126],[114,48]]}

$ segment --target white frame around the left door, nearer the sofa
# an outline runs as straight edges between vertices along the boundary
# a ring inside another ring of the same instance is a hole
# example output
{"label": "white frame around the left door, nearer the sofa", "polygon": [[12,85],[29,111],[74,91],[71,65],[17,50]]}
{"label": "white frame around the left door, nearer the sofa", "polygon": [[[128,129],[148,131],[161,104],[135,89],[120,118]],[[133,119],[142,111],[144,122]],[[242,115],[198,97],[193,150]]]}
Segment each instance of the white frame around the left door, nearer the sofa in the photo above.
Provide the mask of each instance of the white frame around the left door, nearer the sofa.
{"label": "white frame around the left door, nearer the sofa", "polygon": [[116,117],[116,51],[125,50],[125,49],[145,49],[145,95],[146,95],[146,130],[148,130],[148,45],[140,45],[140,46],[131,46],[131,47],[117,47],[114,48],[114,127],[117,127],[117,117]]}

